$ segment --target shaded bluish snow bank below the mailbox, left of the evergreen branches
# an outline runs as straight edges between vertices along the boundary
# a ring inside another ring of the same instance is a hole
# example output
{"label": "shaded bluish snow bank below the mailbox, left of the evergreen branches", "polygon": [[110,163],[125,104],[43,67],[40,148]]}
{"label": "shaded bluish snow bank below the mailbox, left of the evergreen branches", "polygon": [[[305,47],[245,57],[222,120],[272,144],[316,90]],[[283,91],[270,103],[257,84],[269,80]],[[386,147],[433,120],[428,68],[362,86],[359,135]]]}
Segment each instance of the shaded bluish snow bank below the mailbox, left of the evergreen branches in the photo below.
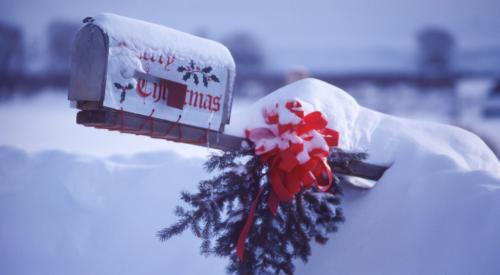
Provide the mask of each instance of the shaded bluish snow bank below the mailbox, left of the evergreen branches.
{"label": "shaded bluish snow bank below the mailbox, left of the evergreen branches", "polygon": [[0,146],[0,274],[223,274],[224,260],[199,256],[192,235],[156,237],[179,192],[206,177],[202,163]]}

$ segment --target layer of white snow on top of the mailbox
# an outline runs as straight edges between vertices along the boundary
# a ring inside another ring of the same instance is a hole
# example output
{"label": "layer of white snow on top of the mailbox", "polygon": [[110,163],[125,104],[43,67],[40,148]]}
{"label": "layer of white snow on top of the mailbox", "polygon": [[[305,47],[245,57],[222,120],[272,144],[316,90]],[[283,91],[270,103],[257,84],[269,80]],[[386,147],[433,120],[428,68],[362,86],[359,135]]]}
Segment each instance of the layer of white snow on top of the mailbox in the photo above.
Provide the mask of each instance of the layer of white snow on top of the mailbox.
{"label": "layer of white snow on top of the mailbox", "polygon": [[112,13],[95,16],[93,24],[102,28],[111,39],[127,42],[136,49],[154,50],[164,56],[173,54],[186,61],[194,59],[211,66],[235,70],[229,50],[213,40]]}

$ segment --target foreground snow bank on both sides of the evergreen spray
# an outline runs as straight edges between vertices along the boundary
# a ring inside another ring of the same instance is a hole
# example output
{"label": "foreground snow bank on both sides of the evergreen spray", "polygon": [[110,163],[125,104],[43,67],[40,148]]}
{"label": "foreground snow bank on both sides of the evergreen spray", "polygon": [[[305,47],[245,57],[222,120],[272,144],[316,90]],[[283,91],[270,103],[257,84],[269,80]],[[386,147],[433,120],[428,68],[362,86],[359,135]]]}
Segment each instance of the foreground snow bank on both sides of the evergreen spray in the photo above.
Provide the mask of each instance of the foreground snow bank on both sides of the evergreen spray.
{"label": "foreground snow bank on both sides of the evergreen spray", "polygon": [[[311,79],[234,114],[228,130],[263,126],[263,106],[292,98],[328,117],[341,148],[390,166],[370,190],[345,186],[346,222],[297,274],[500,274],[500,164],[478,137],[368,110]],[[202,162],[0,146],[0,274],[224,273],[190,232],[155,237],[174,221],[179,191],[208,177]]]}

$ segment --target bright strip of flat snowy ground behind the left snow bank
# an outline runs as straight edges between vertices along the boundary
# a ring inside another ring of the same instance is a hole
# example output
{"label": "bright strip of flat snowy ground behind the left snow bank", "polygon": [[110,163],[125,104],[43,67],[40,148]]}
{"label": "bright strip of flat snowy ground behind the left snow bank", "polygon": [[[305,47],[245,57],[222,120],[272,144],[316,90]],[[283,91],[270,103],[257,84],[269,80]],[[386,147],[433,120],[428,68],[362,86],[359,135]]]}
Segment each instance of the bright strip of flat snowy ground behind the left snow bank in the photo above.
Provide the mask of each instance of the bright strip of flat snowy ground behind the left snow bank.
{"label": "bright strip of flat snowy ground behind the left snow bank", "polygon": [[22,148],[27,152],[60,150],[96,157],[161,150],[186,157],[207,154],[207,150],[200,147],[77,125],[78,110],[69,106],[66,93],[62,91],[46,91],[34,97],[18,97],[0,103],[0,145]]}

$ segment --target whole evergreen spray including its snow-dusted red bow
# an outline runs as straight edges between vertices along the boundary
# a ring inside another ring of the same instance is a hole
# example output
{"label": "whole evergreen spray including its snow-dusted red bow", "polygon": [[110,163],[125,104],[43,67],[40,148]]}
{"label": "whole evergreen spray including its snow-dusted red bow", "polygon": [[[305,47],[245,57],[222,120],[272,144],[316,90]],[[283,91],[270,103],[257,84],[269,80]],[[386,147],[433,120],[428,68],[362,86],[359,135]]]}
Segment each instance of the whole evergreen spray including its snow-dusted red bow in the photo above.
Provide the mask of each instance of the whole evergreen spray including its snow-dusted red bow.
{"label": "whole evergreen spray including its snow-dusted red bow", "polygon": [[321,112],[304,114],[288,101],[263,110],[266,127],[246,130],[253,147],[212,155],[198,192],[183,192],[190,208],[178,206],[177,223],[158,232],[167,240],[190,228],[203,240],[201,253],[229,257],[228,273],[293,274],[293,259],[306,262],[312,240],[324,244],[344,221],[342,176],[335,166],[366,154],[334,148],[339,134]]}

